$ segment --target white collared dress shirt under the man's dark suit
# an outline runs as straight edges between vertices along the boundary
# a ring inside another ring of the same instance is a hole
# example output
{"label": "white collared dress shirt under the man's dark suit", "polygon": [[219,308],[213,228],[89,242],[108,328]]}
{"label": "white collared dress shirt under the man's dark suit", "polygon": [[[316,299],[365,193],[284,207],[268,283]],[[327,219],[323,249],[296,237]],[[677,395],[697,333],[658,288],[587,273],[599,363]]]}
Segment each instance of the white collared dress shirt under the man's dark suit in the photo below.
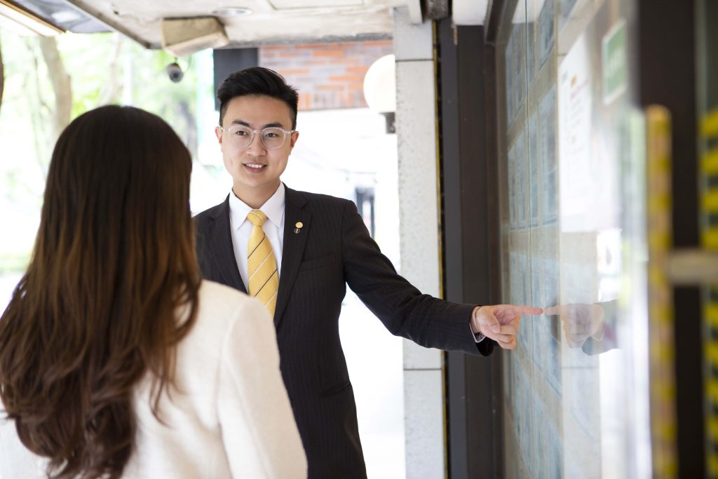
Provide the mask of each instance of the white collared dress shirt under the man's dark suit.
{"label": "white collared dress shirt under the man's dark suit", "polygon": [[[242,282],[247,291],[249,291],[247,243],[253,228],[252,223],[247,220],[247,215],[253,209],[255,208],[251,208],[236,197],[234,192],[230,192],[229,221],[232,231],[232,246],[234,248],[234,257],[237,259],[239,275],[242,276]],[[264,205],[261,205],[258,209],[269,218],[264,222],[264,234],[269,239],[274,259],[276,259],[277,275],[281,276],[281,248],[284,245],[284,183],[280,183],[274,195],[271,195],[269,200],[266,200]]]}

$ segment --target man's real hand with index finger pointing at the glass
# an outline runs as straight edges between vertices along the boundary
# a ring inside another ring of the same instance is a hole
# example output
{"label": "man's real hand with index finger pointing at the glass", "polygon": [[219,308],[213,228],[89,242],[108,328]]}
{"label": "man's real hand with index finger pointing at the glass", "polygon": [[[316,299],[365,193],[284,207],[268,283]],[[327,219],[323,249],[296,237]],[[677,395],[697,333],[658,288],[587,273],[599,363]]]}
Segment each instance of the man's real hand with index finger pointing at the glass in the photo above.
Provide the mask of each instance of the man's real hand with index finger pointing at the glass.
{"label": "man's real hand with index finger pointing at the glass", "polygon": [[540,315],[542,312],[540,307],[513,304],[477,307],[471,315],[471,330],[495,340],[504,349],[514,349],[521,315]]}

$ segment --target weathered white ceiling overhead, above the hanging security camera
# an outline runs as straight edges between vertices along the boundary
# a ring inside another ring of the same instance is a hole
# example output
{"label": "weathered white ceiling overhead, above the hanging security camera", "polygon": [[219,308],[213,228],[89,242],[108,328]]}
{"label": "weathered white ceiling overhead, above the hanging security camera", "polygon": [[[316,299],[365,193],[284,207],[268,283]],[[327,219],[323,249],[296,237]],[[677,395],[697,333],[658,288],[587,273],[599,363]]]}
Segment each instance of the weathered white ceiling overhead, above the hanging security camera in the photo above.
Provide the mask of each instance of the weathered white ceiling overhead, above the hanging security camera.
{"label": "weathered white ceiling overhead, above the hanging security camera", "polygon": [[220,17],[230,45],[298,44],[383,39],[392,34],[392,10],[409,6],[416,17],[420,0],[67,0],[92,17],[150,48],[162,46],[162,19],[204,17],[244,7],[252,13]]}

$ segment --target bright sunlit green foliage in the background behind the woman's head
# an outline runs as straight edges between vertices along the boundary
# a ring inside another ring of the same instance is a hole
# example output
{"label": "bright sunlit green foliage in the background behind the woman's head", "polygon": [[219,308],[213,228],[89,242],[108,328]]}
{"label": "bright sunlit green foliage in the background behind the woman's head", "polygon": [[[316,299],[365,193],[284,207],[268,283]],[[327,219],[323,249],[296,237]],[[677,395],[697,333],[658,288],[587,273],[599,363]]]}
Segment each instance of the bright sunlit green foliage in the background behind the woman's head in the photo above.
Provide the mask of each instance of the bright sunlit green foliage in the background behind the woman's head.
{"label": "bright sunlit green foliage in the background behind the woman's head", "polygon": [[[194,61],[177,60],[185,77],[172,83],[165,72],[175,61],[172,55],[146,50],[119,34],[67,33],[56,40],[72,82],[72,118],[108,103],[138,106],[162,116],[196,154],[199,82]],[[39,217],[55,143],[55,96],[38,39],[2,30],[0,41],[5,75],[0,109],[0,224],[22,223],[28,231],[19,236],[32,238],[35,231],[29,230],[37,225],[34,219]],[[206,85],[202,90],[212,98]],[[0,274],[22,271],[30,248],[32,241],[0,243]]]}

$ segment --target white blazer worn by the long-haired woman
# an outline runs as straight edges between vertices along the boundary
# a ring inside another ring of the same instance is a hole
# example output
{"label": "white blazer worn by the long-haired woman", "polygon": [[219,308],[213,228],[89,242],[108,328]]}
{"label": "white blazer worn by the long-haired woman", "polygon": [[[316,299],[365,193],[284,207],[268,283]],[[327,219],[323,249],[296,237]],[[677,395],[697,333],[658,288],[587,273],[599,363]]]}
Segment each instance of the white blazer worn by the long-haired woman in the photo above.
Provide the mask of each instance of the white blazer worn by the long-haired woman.
{"label": "white blazer worn by the long-haired woman", "polygon": [[[204,281],[197,322],[177,347],[177,389],[151,411],[135,391],[135,450],[125,478],[306,478],[307,458],[279,372],[274,323],[246,294]],[[45,477],[0,409],[0,478]]]}

